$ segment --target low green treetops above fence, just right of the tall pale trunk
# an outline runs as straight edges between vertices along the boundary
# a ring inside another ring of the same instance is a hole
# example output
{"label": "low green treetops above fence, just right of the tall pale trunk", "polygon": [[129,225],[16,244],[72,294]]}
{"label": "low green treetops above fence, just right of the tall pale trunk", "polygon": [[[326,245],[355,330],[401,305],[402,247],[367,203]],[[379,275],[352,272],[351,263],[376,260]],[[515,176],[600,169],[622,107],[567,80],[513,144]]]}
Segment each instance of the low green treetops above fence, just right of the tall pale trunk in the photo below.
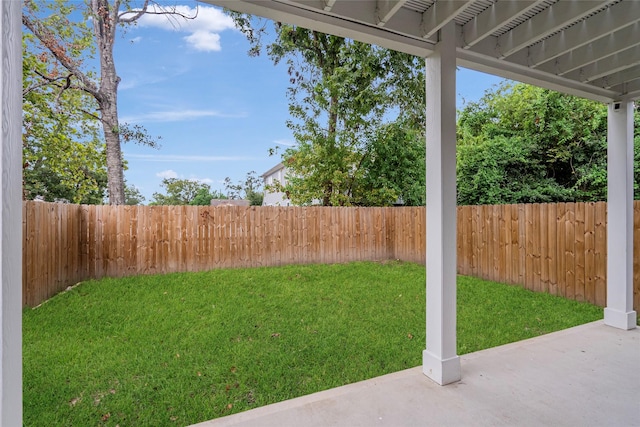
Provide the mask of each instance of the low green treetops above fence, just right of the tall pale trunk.
{"label": "low green treetops above fence, just right of the tall pale trunk", "polygon": [[211,186],[190,179],[164,178],[160,184],[166,194],[153,193],[150,205],[201,205],[208,206],[211,199],[226,198],[211,191]]}

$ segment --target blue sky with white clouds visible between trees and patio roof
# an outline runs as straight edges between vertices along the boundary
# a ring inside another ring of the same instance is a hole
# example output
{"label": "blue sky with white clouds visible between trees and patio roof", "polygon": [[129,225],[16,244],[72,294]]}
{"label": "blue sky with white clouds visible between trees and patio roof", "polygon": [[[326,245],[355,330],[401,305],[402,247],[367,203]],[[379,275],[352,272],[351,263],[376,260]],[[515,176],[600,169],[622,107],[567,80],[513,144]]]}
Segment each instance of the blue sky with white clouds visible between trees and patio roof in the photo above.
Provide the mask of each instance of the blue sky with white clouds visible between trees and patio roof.
{"label": "blue sky with white clouds visible between trees and patio roof", "polygon": [[[193,14],[195,6],[178,7]],[[280,161],[270,148],[294,143],[285,124],[286,66],[274,66],[266,55],[249,57],[249,43],[220,9],[198,8],[192,21],[147,15],[116,41],[120,121],[162,137],[159,150],[123,146],[127,182],[146,203],[161,191],[163,177],[224,190],[225,177],[261,175]],[[499,81],[460,69],[458,108]]]}

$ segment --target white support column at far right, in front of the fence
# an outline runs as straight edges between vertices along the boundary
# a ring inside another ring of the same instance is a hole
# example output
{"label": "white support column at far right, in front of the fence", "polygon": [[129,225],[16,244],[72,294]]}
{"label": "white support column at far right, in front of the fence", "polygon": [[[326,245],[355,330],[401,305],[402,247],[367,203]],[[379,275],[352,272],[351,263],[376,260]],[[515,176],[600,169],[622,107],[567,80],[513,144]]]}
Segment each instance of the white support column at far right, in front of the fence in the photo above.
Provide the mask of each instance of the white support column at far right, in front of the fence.
{"label": "white support column at far right, in front of the fence", "polygon": [[609,104],[607,135],[607,307],[604,323],[636,327],[633,311],[633,102]]}

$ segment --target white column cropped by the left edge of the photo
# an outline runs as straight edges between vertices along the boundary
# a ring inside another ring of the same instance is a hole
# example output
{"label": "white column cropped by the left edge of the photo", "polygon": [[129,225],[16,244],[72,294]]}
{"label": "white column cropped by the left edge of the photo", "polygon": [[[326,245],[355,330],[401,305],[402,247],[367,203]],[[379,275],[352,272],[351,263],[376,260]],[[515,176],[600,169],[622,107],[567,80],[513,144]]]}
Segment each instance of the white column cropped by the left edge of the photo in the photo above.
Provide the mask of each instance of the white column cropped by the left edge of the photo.
{"label": "white column cropped by the left edge of the photo", "polygon": [[0,0],[0,426],[22,425],[22,2]]}

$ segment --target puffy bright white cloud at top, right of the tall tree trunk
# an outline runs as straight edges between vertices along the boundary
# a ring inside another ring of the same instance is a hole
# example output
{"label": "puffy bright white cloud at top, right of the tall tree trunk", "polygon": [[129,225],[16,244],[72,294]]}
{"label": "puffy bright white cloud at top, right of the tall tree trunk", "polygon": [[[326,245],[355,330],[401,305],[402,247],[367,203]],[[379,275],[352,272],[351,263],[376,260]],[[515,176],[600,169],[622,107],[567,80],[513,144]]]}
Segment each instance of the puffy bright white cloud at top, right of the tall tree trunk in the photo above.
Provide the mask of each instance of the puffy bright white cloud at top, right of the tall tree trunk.
{"label": "puffy bright white cloud at top, right of the tall tree trunk", "polygon": [[185,19],[177,15],[143,15],[138,24],[141,27],[155,27],[169,31],[187,33],[183,37],[187,44],[196,50],[204,52],[219,51],[220,35],[224,30],[234,29],[233,20],[220,9],[208,6],[191,8],[186,5],[176,6],[150,6],[155,13],[177,12],[183,16],[195,17]]}

